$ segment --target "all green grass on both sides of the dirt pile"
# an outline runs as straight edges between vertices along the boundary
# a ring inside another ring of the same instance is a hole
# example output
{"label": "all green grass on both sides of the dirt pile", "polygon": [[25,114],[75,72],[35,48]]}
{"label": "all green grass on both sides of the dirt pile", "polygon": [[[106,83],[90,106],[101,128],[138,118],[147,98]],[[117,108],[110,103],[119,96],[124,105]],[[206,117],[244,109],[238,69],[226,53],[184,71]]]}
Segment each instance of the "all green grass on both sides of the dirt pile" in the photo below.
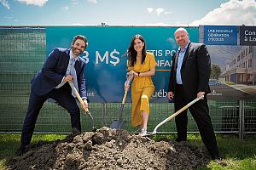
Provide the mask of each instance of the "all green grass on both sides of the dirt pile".
{"label": "all green grass on both sides of the dirt pile", "polygon": [[[52,141],[55,139],[64,139],[64,134],[34,134],[32,143],[40,140]],[[155,140],[175,139],[175,134],[155,135]],[[188,140],[191,144],[205,150],[204,144],[201,142],[199,134],[189,133]],[[203,169],[243,169],[256,170],[256,135],[247,135],[244,140],[239,140],[233,134],[217,134],[218,149],[227,166],[222,167],[214,161],[210,161],[207,167],[199,167]],[[6,169],[7,161],[15,156],[15,150],[20,144],[20,134],[0,134],[0,169]]]}

